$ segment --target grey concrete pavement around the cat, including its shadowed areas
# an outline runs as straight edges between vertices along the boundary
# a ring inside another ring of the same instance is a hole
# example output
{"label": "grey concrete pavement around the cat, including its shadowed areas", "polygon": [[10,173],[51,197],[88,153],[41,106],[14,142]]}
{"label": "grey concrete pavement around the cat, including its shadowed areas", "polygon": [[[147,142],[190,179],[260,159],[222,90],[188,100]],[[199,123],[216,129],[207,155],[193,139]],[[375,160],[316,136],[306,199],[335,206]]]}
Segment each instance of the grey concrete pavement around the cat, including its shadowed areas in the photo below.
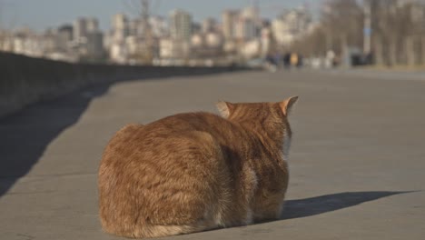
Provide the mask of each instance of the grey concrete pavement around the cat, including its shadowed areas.
{"label": "grey concrete pavement around the cat, including its shadowed areas", "polygon": [[239,72],[101,85],[0,119],[0,239],[120,239],[102,232],[97,167],[122,125],[219,100],[294,107],[282,220],[171,239],[423,239],[425,81]]}

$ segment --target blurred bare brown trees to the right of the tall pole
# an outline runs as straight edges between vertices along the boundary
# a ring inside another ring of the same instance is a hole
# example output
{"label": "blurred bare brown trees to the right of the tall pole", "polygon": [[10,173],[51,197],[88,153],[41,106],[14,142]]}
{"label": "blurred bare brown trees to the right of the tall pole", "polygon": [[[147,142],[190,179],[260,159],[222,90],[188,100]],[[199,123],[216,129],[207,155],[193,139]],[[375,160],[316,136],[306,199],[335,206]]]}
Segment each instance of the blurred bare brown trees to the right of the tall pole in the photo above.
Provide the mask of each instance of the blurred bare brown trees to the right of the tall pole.
{"label": "blurred bare brown trees to the right of the tall pole", "polygon": [[[378,64],[419,63],[425,5],[416,1],[367,0],[371,3],[372,39]],[[422,46],[422,48],[425,46]],[[382,50],[382,51],[381,51]],[[381,63],[382,62],[382,63]]]}

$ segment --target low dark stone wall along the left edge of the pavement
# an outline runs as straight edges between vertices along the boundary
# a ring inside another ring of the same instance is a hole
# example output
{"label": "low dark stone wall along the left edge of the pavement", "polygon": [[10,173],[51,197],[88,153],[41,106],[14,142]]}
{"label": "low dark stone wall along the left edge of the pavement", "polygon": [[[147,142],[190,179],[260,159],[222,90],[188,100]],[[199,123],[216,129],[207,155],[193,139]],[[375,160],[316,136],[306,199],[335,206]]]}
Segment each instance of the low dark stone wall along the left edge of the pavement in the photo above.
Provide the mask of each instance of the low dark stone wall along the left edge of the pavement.
{"label": "low dark stone wall along the left edge of the pavement", "polygon": [[70,64],[0,52],[0,116],[98,83],[231,70],[234,68]]}

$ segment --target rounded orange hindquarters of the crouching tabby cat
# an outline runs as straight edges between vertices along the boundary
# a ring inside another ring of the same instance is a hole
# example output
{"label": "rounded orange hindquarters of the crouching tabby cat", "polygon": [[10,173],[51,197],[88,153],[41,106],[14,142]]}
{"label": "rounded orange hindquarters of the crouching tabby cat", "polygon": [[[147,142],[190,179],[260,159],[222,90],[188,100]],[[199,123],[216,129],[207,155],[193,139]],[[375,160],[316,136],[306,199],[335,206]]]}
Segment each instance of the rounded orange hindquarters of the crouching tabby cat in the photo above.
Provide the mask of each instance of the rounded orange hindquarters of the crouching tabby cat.
{"label": "rounded orange hindquarters of the crouching tabby cat", "polygon": [[228,175],[211,127],[222,122],[211,114],[181,114],[118,131],[99,170],[104,228],[112,226],[110,219],[119,219],[121,228],[134,221],[181,225],[202,219],[225,187],[217,179]]}

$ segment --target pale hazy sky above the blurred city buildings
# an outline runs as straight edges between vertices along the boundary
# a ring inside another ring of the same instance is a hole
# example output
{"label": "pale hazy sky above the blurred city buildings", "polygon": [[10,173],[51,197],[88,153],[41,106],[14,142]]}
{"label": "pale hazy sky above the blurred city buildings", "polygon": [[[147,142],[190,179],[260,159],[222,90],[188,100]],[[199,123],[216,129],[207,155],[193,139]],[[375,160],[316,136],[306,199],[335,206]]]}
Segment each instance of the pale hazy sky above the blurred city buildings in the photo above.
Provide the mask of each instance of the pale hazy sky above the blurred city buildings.
{"label": "pale hazy sky above the blurred city buildings", "polygon": [[[0,0],[0,27],[14,28],[22,25],[35,30],[72,23],[78,16],[94,16],[102,29],[111,25],[116,13],[132,14],[129,1],[136,0]],[[252,0],[152,0],[153,14],[168,16],[175,8],[193,14],[195,21],[213,16],[220,18],[226,8],[241,8]],[[321,1],[305,0],[259,0],[262,16],[272,18],[284,8],[309,3],[311,10],[317,9]]]}

